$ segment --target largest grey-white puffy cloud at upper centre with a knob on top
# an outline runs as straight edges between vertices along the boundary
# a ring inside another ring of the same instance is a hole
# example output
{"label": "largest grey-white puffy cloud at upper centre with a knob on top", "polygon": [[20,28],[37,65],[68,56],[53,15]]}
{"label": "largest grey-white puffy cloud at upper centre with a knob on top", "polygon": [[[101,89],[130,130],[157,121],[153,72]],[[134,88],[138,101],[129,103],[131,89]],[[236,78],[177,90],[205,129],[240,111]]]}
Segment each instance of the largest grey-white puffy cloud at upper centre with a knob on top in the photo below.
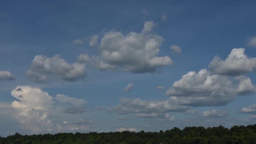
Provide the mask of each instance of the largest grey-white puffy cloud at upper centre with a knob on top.
{"label": "largest grey-white puffy cloud at upper centre with a knob on top", "polygon": [[153,21],[147,21],[141,33],[106,32],[99,43],[99,56],[92,56],[90,64],[101,70],[119,66],[133,73],[155,72],[157,67],[171,65],[170,57],[157,56],[163,38],[154,33],[154,27]]}

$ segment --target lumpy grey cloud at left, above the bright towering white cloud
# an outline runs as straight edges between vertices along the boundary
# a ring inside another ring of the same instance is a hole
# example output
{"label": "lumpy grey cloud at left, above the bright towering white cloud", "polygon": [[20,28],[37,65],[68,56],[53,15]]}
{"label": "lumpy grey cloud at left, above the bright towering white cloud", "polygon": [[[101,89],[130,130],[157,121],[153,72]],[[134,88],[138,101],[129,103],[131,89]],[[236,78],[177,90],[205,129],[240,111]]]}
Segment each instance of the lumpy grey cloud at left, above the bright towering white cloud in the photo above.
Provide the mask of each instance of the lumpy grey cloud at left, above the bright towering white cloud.
{"label": "lumpy grey cloud at left, above the bright towering white cloud", "polygon": [[27,77],[38,83],[46,82],[47,77],[72,82],[83,79],[85,75],[85,64],[69,64],[64,59],[61,59],[59,55],[55,55],[52,58],[37,55],[33,59],[30,69],[27,71]]}

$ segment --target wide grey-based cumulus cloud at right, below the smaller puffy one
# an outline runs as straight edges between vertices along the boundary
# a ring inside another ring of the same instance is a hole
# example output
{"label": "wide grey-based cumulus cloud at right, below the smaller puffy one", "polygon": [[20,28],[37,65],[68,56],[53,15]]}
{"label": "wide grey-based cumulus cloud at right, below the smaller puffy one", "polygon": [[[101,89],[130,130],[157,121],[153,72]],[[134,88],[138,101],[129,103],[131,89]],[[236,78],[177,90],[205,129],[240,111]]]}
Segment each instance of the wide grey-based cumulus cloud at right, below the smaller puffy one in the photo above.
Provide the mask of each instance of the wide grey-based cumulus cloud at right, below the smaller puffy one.
{"label": "wide grey-based cumulus cloud at right, below the smaller puffy one", "polygon": [[235,96],[252,94],[256,87],[249,77],[211,75],[206,69],[188,72],[166,92],[172,101],[188,106],[221,106]]}

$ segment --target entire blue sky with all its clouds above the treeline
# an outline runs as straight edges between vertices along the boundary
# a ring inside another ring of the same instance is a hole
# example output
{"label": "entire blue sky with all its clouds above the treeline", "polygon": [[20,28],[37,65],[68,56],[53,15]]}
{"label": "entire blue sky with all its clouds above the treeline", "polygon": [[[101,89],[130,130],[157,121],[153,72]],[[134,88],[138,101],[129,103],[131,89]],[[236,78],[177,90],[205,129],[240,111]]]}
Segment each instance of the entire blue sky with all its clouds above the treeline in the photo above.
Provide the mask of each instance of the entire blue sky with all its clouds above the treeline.
{"label": "entire blue sky with all its clouds above the treeline", "polygon": [[0,135],[254,124],[255,5],[1,1]]}

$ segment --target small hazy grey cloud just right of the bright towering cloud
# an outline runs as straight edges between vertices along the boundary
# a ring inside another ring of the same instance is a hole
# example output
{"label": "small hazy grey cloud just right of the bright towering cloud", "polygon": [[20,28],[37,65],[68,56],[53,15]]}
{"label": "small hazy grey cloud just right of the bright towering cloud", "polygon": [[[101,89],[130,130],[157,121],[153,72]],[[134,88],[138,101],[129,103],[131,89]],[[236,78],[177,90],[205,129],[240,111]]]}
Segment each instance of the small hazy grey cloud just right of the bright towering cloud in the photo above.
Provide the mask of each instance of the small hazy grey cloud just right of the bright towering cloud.
{"label": "small hazy grey cloud just right of the bright towering cloud", "polygon": [[55,99],[62,103],[69,104],[69,106],[63,110],[64,113],[83,114],[84,112],[86,112],[84,104],[87,101],[85,101],[84,99],[69,97],[63,94],[57,94]]}

